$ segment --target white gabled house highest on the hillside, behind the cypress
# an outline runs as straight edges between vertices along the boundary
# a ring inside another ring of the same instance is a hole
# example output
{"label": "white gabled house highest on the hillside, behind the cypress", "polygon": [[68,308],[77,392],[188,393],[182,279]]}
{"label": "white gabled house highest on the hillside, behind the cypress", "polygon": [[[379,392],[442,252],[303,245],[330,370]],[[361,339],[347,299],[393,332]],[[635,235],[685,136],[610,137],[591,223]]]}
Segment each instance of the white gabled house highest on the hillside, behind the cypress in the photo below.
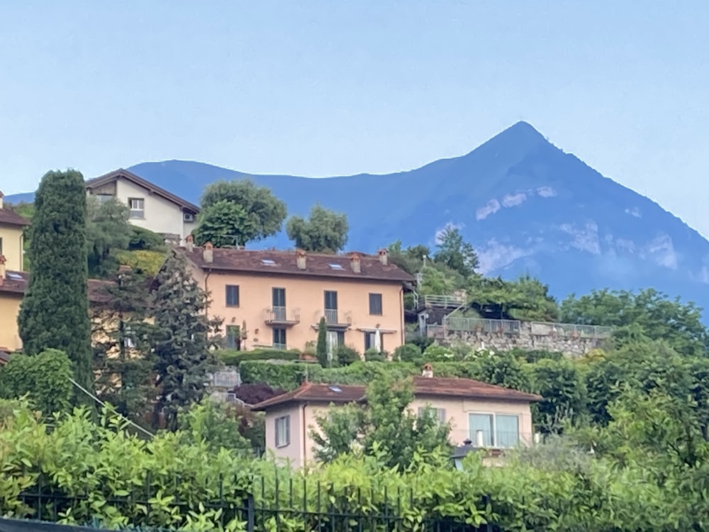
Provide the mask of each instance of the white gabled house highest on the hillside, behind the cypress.
{"label": "white gabled house highest on the hillside, behind the cypress", "polygon": [[199,207],[128,170],[116,170],[86,181],[86,191],[99,201],[116,198],[130,209],[129,221],[180,243],[195,226]]}

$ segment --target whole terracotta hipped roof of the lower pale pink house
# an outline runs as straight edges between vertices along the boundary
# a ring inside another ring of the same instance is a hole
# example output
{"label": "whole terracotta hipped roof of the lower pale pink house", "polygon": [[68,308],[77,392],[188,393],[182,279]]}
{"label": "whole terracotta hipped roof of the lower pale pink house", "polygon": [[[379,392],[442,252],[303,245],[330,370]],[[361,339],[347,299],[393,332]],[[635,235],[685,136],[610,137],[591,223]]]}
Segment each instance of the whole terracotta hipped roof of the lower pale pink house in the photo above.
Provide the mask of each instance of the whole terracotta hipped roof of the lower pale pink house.
{"label": "whole terracotta hipped roof of the lower pale pink house", "polygon": [[[335,391],[339,390],[339,391]],[[252,406],[254,410],[267,410],[272,406],[291,402],[320,401],[327,403],[351,403],[364,401],[367,388],[351,384],[304,383],[293,392],[281,394]],[[460,397],[464,399],[493,399],[503,401],[532,402],[542,397],[515,389],[503,388],[473,379],[447,379],[443,377],[413,377],[413,393],[416,397]]]}

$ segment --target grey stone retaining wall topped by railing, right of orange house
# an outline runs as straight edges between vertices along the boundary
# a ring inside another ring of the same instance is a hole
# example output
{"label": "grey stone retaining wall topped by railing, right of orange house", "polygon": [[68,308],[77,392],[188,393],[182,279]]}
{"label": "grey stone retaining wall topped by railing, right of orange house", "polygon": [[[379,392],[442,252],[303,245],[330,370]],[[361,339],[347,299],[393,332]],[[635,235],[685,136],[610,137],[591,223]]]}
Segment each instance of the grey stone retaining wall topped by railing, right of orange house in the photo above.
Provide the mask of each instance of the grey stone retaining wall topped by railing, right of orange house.
{"label": "grey stone retaining wall topped by railing, right of orange house", "polygon": [[512,320],[469,320],[439,326],[428,326],[428,336],[443,345],[464,342],[474,348],[500,351],[514,348],[523,350],[557,351],[569,356],[585,355],[601,348],[610,336],[610,328],[574,326],[568,323],[537,323]]}

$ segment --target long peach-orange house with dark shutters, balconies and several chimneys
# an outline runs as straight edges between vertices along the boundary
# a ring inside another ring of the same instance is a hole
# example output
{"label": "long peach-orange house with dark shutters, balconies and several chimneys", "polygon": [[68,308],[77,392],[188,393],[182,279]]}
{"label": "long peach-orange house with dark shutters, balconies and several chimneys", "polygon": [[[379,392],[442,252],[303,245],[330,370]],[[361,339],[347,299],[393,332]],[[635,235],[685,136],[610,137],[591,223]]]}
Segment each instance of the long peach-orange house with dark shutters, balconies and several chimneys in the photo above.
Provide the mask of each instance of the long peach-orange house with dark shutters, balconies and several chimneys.
{"label": "long peach-orange house with dark shutters, balconies and several chimneys", "polygon": [[325,318],[328,348],[391,352],[404,342],[403,291],[414,281],[378,255],[302,250],[197,248],[186,243],[191,275],[223,318],[229,348],[303,349]]}

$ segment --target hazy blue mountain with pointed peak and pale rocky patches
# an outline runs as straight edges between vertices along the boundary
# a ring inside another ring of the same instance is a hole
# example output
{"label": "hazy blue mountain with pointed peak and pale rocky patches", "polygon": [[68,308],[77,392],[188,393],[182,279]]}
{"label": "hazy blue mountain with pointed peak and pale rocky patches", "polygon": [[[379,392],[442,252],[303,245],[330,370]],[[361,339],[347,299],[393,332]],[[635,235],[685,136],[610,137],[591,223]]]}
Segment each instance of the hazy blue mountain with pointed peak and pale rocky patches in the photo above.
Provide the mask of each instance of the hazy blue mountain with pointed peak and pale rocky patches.
{"label": "hazy blue mountain with pointed peak and pale rocky patches", "polygon": [[[286,201],[290,214],[306,215],[316,202],[344,211],[348,249],[374,251],[398,239],[434,245],[437,231],[452,224],[489,275],[528,272],[557,297],[654,287],[709,308],[709,242],[525,122],[462,157],[388,175],[250,175],[176,160],[130,170],[193,202],[208,183],[249,177]],[[291,243],[281,234],[251,247],[270,246]]]}

